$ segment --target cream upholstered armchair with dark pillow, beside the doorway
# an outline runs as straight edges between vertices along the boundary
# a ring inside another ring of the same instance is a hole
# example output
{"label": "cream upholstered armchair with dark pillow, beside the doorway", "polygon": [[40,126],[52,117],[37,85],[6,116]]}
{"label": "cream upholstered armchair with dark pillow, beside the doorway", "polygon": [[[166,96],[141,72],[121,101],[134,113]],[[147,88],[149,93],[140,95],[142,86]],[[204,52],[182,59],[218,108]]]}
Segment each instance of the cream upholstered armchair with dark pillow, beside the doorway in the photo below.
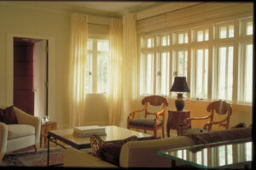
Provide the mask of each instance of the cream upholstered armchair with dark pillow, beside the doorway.
{"label": "cream upholstered armchair with dark pillow, beside the doorway", "polygon": [[0,163],[5,153],[33,145],[40,147],[41,121],[39,117],[27,114],[14,107],[18,124],[0,122]]}

